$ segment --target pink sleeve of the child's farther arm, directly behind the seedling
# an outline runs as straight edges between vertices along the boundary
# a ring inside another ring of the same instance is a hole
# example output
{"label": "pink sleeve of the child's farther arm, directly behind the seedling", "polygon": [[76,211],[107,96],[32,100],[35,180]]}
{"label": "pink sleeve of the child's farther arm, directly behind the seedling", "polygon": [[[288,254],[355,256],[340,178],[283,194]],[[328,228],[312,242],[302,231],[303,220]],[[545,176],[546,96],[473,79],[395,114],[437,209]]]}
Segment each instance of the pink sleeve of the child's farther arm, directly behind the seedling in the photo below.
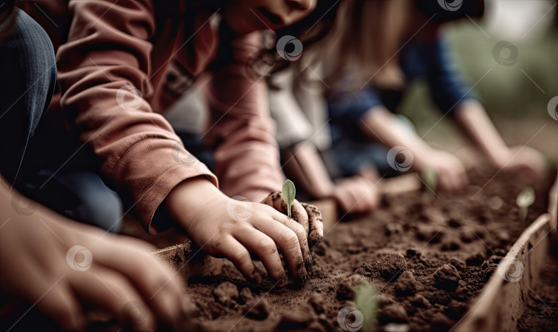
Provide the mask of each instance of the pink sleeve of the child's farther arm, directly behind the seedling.
{"label": "pink sleeve of the child's farther arm, directly behind the seedling", "polygon": [[231,41],[232,59],[214,72],[207,89],[211,122],[205,136],[215,149],[220,188],[253,202],[280,190],[285,180],[265,77],[248,65],[259,50],[257,32]]}

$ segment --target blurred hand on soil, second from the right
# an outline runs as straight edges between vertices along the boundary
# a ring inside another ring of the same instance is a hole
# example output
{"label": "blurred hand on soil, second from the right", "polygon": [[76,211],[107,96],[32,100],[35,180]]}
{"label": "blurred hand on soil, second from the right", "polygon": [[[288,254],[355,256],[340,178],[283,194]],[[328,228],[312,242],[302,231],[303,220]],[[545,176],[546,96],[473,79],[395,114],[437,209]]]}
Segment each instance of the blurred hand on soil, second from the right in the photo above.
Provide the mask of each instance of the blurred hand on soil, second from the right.
{"label": "blurred hand on soil, second from the right", "polygon": [[456,191],[468,183],[463,163],[453,154],[444,150],[430,149],[422,156],[415,155],[415,167],[420,172],[428,168],[434,169],[438,180],[437,189],[442,191]]}

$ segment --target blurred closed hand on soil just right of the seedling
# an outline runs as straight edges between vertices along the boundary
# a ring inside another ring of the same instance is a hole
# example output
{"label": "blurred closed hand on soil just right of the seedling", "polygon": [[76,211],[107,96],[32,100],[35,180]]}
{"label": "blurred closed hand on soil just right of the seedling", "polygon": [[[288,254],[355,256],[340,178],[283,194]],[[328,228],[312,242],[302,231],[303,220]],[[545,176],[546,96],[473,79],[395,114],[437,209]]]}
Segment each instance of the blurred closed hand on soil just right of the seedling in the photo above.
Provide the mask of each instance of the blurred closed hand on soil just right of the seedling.
{"label": "blurred closed hand on soil just right of the seedling", "polygon": [[347,214],[364,214],[378,207],[380,194],[374,183],[364,176],[342,178],[333,193],[340,208]]}

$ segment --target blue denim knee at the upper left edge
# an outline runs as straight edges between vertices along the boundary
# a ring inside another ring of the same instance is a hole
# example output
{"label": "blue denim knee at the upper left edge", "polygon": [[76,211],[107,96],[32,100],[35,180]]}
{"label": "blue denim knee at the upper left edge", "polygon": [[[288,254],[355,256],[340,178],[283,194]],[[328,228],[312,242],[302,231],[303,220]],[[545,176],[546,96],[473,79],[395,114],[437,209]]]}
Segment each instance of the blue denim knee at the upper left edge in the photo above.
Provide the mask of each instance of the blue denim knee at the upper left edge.
{"label": "blue denim knee at the upper left edge", "polygon": [[50,39],[37,22],[17,11],[11,34],[0,41],[0,174],[15,185],[56,83]]}

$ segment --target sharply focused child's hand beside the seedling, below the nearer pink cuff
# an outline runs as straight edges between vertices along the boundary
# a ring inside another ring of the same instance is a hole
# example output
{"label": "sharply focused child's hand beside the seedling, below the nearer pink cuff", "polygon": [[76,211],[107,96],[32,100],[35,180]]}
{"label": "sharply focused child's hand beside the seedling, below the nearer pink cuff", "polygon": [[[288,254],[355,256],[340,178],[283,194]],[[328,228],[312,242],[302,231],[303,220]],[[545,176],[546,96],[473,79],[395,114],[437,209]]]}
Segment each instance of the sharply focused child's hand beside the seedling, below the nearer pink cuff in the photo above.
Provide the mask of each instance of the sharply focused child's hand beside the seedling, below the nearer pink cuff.
{"label": "sharply focused child's hand beside the seedling, below the nearer pink cuff", "polygon": [[196,178],[176,186],[165,207],[203,251],[231,260],[250,282],[262,282],[252,252],[279,287],[287,284],[277,247],[293,276],[308,276],[312,256],[304,224],[308,226],[309,214],[300,203],[293,206],[299,223],[268,205],[229,198],[205,178]]}

